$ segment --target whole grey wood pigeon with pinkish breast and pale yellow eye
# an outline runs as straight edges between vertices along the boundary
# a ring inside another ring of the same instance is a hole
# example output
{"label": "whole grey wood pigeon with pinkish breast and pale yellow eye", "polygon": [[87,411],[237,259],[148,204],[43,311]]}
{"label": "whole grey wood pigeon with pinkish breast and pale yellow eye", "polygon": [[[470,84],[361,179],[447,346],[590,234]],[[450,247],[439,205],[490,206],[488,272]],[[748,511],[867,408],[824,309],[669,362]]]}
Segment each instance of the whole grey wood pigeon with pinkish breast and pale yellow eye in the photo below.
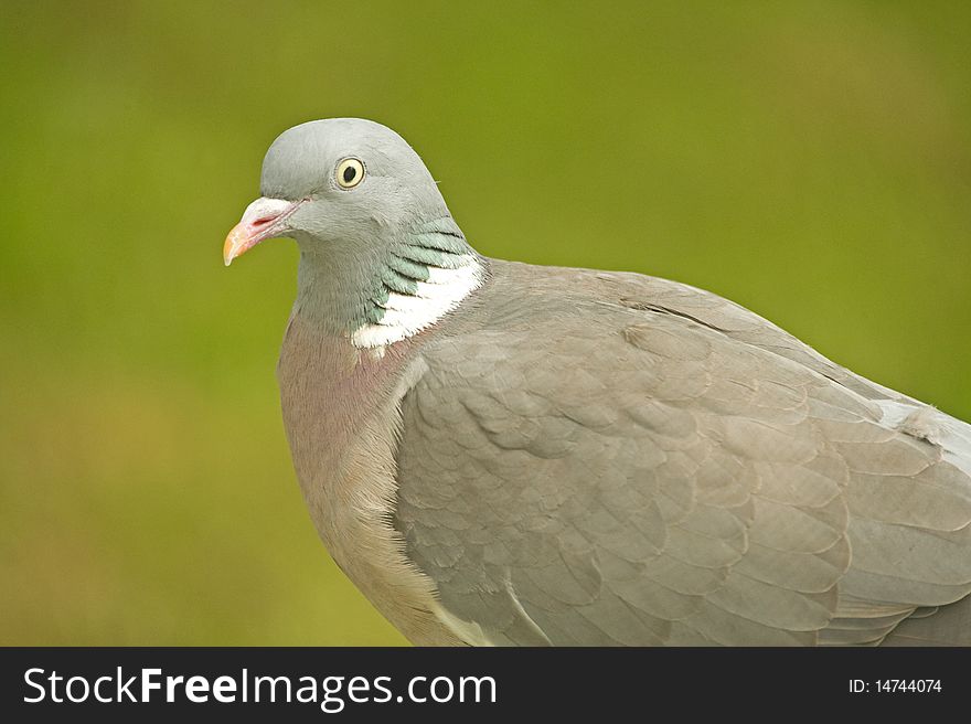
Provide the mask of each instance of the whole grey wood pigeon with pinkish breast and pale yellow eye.
{"label": "whole grey wood pigeon with pinkish breast and pale yellow eye", "polygon": [[306,123],[223,248],[338,566],[419,646],[971,645],[971,425],[747,309],[488,258],[395,131]]}

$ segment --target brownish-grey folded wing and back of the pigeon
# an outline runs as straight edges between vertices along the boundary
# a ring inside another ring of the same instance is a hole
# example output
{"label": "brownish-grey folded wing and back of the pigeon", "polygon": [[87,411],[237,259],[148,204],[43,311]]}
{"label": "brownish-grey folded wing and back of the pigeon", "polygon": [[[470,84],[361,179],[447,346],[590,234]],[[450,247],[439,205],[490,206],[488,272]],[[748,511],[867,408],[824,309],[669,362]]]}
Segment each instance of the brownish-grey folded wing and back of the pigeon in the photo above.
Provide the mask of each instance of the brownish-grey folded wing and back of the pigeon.
{"label": "brownish-grey folded wing and back of the pigeon", "polygon": [[533,269],[402,400],[395,525],[467,641],[878,642],[971,590],[968,426],[714,295]]}

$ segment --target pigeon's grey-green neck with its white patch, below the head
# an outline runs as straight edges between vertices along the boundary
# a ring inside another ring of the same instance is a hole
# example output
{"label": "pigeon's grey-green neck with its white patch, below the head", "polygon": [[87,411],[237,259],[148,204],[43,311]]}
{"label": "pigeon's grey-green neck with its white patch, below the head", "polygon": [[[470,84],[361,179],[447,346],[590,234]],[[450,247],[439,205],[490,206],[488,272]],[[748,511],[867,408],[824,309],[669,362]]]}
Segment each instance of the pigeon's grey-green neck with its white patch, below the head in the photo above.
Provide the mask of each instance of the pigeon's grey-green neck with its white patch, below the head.
{"label": "pigeon's grey-green neck with its white patch, below the head", "polygon": [[418,224],[386,243],[301,245],[296,313],[359,349],[417,334],[458,307],[486,267],[451,217]]}

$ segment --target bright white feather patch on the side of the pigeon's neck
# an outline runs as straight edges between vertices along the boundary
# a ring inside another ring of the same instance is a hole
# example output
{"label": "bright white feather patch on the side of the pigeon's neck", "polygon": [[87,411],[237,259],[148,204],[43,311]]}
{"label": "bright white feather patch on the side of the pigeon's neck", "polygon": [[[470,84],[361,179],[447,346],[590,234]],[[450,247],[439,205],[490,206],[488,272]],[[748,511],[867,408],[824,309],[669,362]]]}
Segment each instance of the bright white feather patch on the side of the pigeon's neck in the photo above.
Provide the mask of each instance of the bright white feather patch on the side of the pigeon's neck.
{"label": "bright white feather patch on the side of the pigeon's neck", "polygon": [[414,295],[391,292],[383,305],[384,316],[373,324],[359,327],[351,342],[359,349],[381,348],[399,342],[430,327],[459,306],[486,278],[479,260],[471,254],[459,257],[454,269],[429,267],[427,281],[418,281]]}

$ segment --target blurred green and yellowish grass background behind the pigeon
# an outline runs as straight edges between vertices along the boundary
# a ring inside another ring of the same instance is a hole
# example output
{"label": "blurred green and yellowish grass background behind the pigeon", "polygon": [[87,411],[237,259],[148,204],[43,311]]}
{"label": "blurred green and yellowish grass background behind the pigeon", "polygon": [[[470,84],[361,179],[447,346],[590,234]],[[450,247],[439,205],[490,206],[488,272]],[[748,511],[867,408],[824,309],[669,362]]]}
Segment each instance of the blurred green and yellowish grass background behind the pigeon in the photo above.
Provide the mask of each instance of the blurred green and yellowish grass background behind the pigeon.
{"label": "blurred green and yellowish grass background behind the pigeon", "polygon": [[971,418],[971,4],[0,7],[0,643],[403,643],[303,509],[269,142],[363,116],[492,256],[727,296]]}

